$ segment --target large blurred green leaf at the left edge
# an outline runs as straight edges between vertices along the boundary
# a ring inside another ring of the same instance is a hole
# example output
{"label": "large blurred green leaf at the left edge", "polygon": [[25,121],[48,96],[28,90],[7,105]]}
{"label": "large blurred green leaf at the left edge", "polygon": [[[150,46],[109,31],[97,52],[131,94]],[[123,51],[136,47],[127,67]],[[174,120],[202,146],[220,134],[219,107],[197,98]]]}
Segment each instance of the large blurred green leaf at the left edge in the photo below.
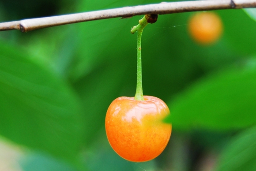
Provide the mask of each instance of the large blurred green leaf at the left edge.
{"label": "large blurred green leaf at the left edge", "polygon": [[16,143],[75,160],[82,119],[69,85],[16,47],[0,44],[0,134]]}

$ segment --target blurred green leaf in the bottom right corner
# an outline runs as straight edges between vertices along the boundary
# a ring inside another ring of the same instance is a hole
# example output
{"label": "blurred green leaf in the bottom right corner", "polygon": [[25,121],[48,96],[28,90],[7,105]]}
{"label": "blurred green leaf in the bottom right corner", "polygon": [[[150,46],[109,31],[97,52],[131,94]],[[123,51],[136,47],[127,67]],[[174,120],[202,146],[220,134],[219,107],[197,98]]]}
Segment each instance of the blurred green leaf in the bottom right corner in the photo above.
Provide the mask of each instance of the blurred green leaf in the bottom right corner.
{"label": "blurred green leaf in the bottom right corner", "polygon": [[216,171],[255,171],[256,127],[237,135],[222,152]]}

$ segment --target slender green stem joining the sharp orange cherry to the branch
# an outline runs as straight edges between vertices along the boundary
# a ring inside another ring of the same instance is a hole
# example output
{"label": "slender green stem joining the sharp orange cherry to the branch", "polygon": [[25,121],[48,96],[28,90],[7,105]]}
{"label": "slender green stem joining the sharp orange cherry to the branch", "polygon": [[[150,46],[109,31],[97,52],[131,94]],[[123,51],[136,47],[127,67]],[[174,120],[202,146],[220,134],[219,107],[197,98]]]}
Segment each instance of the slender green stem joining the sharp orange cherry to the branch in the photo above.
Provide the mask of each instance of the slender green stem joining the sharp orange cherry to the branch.
{"label": "slender green stem joining the sharp orange cherry to the branch", "polygon": [[133,26],[131,33],[135,33],[137,31],[137,86],[135,93],[135,100],[144,100],[143,97],[143,89],[142,89],[142,65],[141,65],[141,37],[143,29],[147,26],[148,23],[156,22],[158,15],[144,15],[142,19],[139,20],[139,24],[137,26]]}

